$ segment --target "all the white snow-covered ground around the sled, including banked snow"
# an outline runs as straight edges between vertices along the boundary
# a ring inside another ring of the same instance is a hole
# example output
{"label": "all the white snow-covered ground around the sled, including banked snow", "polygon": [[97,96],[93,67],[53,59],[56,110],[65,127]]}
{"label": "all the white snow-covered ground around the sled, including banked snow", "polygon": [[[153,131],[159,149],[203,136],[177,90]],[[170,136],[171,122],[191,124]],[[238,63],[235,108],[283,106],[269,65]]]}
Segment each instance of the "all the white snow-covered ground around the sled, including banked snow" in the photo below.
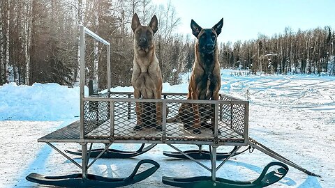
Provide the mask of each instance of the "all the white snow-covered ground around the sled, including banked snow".
{"label": "all the white snow-covered ground around the sled, including banked snow", "polygon": [[[288,175],[271,187],[335,187],[335,77],[311,75],[234,76],[222,71],[221,92],[250,100],[249,135],[300,166],[321,175],[308,176],[290,167]],[[163,85],[164,92],[187,92],[184,84]],[[114,88],[113,91],[132,91]],[[80,173],[80,169],[37,139],[68,125],[79,116],[79,88],[58,84],[0,86],[0,187],[45,187],[25,180],[31,172],[44,175]],[[80,148],[79,144],[55,144],[61,150]],[[112,148],[135,150],[139,145],[117,144]],[[98,147],[98,146],[95,146]],[[181,148],[196,148],[181,146]],[[218,150],[231,148],[219,147]],[[107,177],[128,176],[140,159],[154,159],[161,168],[147,180],[129,187],[167,187],[161,177],[210,175],[188,160],[162,154],[171,150],[159,145],[133,159],[99,159],[90,169]],[[75,156],[73,156],[75,157]],[[75,157],[80,162],[80,157]],[[218,171],[218,177],[251,180],[262,168],[276,161],[255,150],[232,157]],[[209,165],[209,162],[204,161]],[[218,162],[219,164],[219,162]]]}

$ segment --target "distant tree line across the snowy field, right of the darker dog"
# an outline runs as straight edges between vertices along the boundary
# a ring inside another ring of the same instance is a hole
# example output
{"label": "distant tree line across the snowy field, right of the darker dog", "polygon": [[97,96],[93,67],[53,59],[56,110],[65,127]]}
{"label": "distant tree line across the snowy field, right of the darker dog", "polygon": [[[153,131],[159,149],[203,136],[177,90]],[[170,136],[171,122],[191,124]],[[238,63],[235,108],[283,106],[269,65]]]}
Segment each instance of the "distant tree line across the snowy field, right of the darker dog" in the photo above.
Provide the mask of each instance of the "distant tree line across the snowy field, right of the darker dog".
{"label": "distant tree line across the snowy field, right of the darker dog", "polygon": [[272,37],[223,44],[222,62],[226,68],[240,67],[251,72],[335,75],[335,33],[329,26],[308,31],[285,28]]}

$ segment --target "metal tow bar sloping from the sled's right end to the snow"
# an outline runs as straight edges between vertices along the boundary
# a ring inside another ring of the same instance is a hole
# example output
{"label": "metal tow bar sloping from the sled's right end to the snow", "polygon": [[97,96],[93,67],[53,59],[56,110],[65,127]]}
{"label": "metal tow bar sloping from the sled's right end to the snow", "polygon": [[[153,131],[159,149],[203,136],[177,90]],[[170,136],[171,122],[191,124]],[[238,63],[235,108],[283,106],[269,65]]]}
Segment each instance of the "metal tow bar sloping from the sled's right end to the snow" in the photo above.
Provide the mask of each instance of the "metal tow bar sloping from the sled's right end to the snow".
{"label": "metal tow bar sloping from the sled's right end to the snow", "polygon": [[265,153],[266,155],[269,155],[270,157],[273,157],[274,159],[277,159],[280,162],[288,164],[289,166],[292,166],[293,168],[298,169],[299,171],[302,171],[302,172],[306,173],[307,175],[313,175],[313,176],[321,178],[320,175],[312,173],[311,171],[308,171],[308,170],[302,168],[301,166],[299,166],[299,165],[295,164],[294,162],[290,161],[289,159],[279,155],[274,150],[271,150],[270,148],[267,148],[262,143],[259,143],[258,141],[255,141],[254,139],[251,139],[250,137],[248,139],[248,145],[251,146],[252,148],[255,148],[255,149],[259,150],[260,152]]}

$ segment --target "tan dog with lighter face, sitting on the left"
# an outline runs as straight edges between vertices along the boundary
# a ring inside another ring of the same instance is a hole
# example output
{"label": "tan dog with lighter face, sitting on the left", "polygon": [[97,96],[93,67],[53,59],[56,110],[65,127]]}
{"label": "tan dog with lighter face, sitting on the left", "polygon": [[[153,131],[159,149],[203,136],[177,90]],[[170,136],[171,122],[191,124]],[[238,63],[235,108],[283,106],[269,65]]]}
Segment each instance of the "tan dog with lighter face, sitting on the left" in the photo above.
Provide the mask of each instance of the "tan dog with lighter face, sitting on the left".
{"label": "tan dog with lighter face, sitting on the left", "polygon": [[[162,74],[155,54],[154,34],[158,30],[156,15],[149,26],[142,26],[137,14],[133,15],[131,29],[134,32],[134,60],[131,84],[136,99],[161,99]],[[136,102],[137,123],[134,130],[154,127],[162,130],[161,104]],[[155,120],[156,119],[156,120]]]}

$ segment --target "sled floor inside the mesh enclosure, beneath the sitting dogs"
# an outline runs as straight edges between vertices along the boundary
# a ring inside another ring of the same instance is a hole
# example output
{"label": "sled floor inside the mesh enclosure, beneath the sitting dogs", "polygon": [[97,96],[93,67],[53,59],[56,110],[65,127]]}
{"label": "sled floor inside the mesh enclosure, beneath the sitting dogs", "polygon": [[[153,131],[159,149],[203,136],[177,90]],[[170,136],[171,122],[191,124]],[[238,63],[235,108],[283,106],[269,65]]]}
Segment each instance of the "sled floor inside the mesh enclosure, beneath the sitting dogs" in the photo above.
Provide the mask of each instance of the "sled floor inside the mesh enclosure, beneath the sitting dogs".
{"label": "sled floor inside the mesh enclosure, beneath the sitting dogs", "polygon": [[[146,142],[158,141],[162,142],[163,131],[155,130],[151,127],[144,128],[140,131],[133,130],[136,125],[135,119],[129,119],[124,121],[115,121],[114,125],[114,139],[115,142],[126,141],[126,140],[143,140]],[[99,127],[97,127],[92,132],[87,134],[89,139],[109,139],[110,132],[108,128],[110,127],[110,120],[106,121]],[[221,134],[218,135],[219,142],[241,142],[243,141],[243,136],[234,132],[229,127],[220,126]],[[191,130],[184,130],[182,123],[166,123],[166,143],[178,143],[178,141],[208,141],[213,142],[214,136],[213,132],[209,129],[204,129],[201,134],[195,134]]]}

